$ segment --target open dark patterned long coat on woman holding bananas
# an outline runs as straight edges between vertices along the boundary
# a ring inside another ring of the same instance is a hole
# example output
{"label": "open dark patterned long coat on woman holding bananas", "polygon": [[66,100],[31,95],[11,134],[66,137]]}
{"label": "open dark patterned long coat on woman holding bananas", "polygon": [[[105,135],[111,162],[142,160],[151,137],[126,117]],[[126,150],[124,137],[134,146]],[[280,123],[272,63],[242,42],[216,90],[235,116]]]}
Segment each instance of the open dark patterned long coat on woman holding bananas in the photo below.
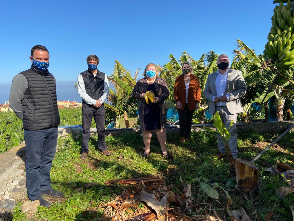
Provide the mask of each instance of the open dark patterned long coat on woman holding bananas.
{"label": "open dark patterned long coat on woman holding bananas", "polygon": [[[156,93],[159,98],[159,108],[160,108],[160,124],[161,129],[166,128],[166,105],[165,100],[168,98],[169,90],[166,84],[166,81],[161,77],[156,77],[154,81],[154,86],[156,88]],[[144,108],[145,108],[145,99],[140,98],[140,94],[146,93],[148,88],[148,83],[145,78],[139,79],[133,89],[132,97],[135,99],[139,99],[138,111],[139,111],[139,119],[140,119],[140,126],[142,131],[145,130],[144,125]]]}

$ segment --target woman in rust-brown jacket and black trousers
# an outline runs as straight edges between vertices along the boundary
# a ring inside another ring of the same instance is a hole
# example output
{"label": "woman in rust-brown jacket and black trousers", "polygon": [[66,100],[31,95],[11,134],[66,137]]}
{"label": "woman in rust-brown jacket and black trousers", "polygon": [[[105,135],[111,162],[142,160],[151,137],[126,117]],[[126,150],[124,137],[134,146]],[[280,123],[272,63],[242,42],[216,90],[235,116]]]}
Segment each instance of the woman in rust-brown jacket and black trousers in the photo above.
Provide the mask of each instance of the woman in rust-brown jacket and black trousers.
{"label": "woman in rust-brown jacket and black trousers", "polygon": [[189,141],[193,113],[199,108],[201,88],[198,77],[193,75],[193,66],[188,61],[182,64],[182,75],[176,78],[173,95],[179,113],[180,142]]}

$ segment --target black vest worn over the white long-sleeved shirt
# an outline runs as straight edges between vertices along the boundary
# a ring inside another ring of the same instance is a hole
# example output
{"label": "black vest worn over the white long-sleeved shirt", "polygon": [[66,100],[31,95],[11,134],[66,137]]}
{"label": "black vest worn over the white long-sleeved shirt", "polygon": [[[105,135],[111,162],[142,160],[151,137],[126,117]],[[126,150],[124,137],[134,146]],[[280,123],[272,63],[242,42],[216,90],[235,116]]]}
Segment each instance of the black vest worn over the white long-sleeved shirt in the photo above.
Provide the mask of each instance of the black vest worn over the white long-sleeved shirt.
{"label": "black vest worn over the white long-sleeved shirt", "polygon": [[[97,70],[97,74],[94,77],[93,73],[88,69],[82,72],[81,75],[84,80],[87,95],[89,95],[94,100],[101,98],[104,90],[105,74]],[[86,102],[83,100],[83,103]]]}

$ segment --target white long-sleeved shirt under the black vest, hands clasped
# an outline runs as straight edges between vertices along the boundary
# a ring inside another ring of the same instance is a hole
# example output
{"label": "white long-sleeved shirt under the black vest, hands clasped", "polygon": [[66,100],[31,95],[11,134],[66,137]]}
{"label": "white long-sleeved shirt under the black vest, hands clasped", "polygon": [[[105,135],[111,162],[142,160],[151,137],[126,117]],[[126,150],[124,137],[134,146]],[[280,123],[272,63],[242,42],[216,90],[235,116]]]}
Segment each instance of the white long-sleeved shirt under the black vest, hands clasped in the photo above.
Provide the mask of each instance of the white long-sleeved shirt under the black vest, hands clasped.
{"label": "white long-sleeved shirt under the black vest, hands clasped", "polygon": [[[96,76],[96,74],[93,74],[94,77]],[[86,93],[84,79],[83,79],[83,76],[81,74],[78,75],[78,94],[80,95],[80,97],[84,101],[86,101],[87,104],[89,104],[89,105],[95,105],[96,104],[96,100],[91,98]],[[104,84],[103,84],[103,94],[98,99],[98,100],[101,100],[100,101],[101,104],[106,100],[106,98],[108,97],[108,94],[109,94],[109,83],[108,83],[107,76],[105,75]]]}

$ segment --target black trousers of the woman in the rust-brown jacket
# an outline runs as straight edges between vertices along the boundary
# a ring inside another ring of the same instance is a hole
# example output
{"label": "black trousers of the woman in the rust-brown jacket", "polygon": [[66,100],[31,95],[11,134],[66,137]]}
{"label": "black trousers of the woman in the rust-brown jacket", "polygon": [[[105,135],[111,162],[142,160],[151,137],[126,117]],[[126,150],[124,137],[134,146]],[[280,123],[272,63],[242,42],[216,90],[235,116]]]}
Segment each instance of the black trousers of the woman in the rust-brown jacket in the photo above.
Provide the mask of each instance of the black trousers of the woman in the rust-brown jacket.
{"label": "black trousers of the woman in the rust-brown jacket", "polygon": [[190,138],[194,110],[189,110],[186,103],[184,110],[179,110],[180,136]]}

